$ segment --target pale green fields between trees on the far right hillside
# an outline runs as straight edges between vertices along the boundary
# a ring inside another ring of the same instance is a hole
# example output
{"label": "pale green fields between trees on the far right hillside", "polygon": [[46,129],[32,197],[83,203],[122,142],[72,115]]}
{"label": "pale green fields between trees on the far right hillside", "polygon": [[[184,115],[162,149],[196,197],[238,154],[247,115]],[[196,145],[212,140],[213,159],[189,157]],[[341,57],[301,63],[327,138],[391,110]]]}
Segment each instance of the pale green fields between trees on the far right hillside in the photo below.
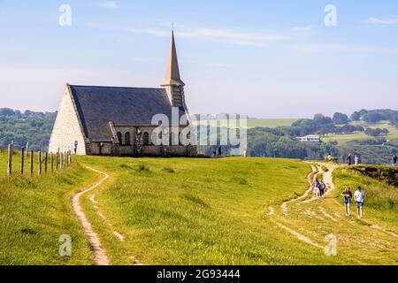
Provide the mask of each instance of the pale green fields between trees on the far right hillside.
{"label": "pale green fields between trees on the far right hillside", "polygon": [[[364,122],[351,122],[351,125],[360,125],[366,127],[371,127],[371,128],[387,128],[388,131],[390,131],[390,134],[383,135],[387,140],[392,140],[392,139],[398,139],[398,129],[388,122],[381,122],[378,124],[366,124]],[[352,140],[363,140],[363,139],[369,139],[371,138],[370,136],[364,134],[364,133],[358,133],[358,134],[327,134],[325,137],[322,138],[324,142],[332,142],[336,141],[339,142],[340,145],[344,145],[346,142],[352,141]]]}

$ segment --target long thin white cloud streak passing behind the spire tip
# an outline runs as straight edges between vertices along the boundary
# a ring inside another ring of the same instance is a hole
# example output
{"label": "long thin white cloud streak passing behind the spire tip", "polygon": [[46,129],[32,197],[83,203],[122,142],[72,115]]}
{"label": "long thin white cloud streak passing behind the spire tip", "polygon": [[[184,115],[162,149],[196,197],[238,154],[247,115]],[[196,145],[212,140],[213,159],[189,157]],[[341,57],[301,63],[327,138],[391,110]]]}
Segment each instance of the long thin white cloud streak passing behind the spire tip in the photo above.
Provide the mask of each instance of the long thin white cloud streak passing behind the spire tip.
{"label": "long thin white cloud streak passing behind the spire tip", "polygon": [[[150,34],[155,36],[170,36],[170,30],[163,29],[128,29],[128,31],[136,34]],[[249,31],[236,31],[228,29],[214,28],[180,28],[175,33],[180,38],[188,38],[195,40],[210,40],[214,42],[224,42],[233,45],[243,46],[266,46],[270,42],[285,40],[286,37],[275,33],[260,33]]]}

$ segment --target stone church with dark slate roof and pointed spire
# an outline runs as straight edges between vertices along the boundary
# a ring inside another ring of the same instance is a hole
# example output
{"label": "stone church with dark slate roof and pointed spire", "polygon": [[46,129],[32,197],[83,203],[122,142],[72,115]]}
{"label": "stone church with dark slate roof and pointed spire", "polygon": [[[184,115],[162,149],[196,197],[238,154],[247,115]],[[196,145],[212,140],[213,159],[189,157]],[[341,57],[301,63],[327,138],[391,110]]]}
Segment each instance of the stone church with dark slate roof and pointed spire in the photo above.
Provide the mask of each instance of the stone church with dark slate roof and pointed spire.
{"label": "stone church with dark slate roof and pointed spire", "polygon": [[66,85],[50,138],[50,152],[74,147],[78,155],[193,157],[195,146],[182,145],[180,139],[187,125],[179,125],[172,132],[172,145],[155,145],[151,138],[158,127],[152,125],[154,115],[162,114],[170,121],[173,116],[188,115],[184,86],[172,34],[161,88]]}

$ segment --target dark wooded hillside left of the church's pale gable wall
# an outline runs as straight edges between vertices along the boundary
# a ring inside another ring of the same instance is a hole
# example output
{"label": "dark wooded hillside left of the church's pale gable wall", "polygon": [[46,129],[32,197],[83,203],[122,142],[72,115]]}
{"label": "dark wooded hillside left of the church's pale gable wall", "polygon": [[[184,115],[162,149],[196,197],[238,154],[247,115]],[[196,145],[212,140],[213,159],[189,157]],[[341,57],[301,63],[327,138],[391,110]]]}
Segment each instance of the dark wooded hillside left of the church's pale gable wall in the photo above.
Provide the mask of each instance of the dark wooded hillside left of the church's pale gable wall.
{"label": "dark wooded hillside left of the church's pale gable wall", "polygon": [[14,111],[0,109],[0,148],[5,149],[10,142],[16,148],[26,146],[33,150],[47,147],[57,112]]}

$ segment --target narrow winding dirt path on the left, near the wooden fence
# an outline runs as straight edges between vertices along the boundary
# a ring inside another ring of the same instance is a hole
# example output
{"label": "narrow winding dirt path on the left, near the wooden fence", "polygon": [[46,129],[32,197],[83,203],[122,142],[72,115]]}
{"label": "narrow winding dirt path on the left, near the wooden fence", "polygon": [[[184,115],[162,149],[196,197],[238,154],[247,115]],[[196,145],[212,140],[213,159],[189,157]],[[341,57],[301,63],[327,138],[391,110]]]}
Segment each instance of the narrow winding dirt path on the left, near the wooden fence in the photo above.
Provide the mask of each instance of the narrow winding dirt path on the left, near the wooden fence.
{"label": "narrow winding dirt path on the left, near the wooden fence", "polygon": [[93,253],[94,253],[95,264],[96,265],[110,265],[108,256],[106,256],[104,250],[101,247],[101,241],[98,238],[98,235],[94,232],[94,230],[91,226],[91,223],[88,221],[88,218],[86,217],[86,214],[84,214],[83,210],[81,209],[81,205],[80,205],[80,197],[82,195],[85,195],[89,191],[92,191],[96,187],[100,186],[110,176],[108,174],[100,172],[91,167],[86,167],[86,168],[88,168],[88,170],[91,170],[91,171],[94,171],[94,172],[97,172],[97,173],[103,175],[103,179],[96,182],[96,184],[94,184],[93,186],[88,187],[85,190],[81,191],[80,193],[73,195],[73,199],[72,199],[73,210],[74,210],[74,213],[76,214],[77,218],[79,218],[79,220],[80,220],[80,224],[83,227],[84,233],[86,233],[86,235],[88,237],[88,241],[89,241],[91,249],[93,250]]}

